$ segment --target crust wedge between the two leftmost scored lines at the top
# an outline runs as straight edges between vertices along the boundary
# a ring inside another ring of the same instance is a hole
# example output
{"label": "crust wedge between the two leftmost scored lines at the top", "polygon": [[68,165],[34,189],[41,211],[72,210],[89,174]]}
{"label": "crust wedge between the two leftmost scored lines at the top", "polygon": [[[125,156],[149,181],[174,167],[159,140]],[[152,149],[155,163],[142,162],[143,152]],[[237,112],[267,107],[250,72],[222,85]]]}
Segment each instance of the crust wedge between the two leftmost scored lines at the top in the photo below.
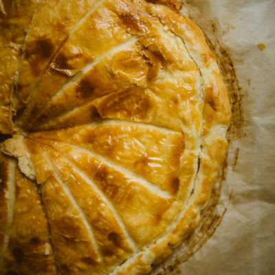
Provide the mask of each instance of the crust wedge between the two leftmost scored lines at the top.
{"label": "crust wedge between the two leftmost scored lines at the top", "polygon": [[39,77],[47,67],[76,23],[97,1],[94,0],[41,0],[25,39],[23,59],[17,80],[17,104],[21,109],[36,87]]}

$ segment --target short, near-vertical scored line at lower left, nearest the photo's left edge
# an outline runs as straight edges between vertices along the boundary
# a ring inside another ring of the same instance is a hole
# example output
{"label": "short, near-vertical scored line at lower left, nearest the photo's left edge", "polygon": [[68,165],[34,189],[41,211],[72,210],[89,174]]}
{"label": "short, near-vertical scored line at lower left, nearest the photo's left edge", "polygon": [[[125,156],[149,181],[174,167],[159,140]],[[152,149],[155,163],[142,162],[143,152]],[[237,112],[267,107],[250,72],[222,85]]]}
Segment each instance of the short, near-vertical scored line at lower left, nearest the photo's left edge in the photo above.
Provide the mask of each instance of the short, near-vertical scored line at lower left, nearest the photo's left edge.
{"label": "short, near-vertical scored line at lower left, nearest the photo's left edge", "polygon": [[3,248],[0,254],[0,268],[3,263],[3,259],[5,256],[5,252],[8,248],[8,243],[10,241],[12,220],[13,220],[13,212],[14,212],[14,200],[15,200],[15,169],[16,169],[16,161],[14,159],[8,159],[9,173],[8,173],[8,226],[5,231],[5,236],[3,239]]}

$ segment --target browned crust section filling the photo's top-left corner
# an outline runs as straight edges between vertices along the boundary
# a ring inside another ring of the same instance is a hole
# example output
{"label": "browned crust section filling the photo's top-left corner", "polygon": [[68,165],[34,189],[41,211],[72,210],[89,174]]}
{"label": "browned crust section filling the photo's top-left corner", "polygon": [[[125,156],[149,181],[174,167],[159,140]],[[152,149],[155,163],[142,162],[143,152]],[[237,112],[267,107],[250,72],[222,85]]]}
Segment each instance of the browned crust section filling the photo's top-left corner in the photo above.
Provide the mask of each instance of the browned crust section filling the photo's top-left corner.
{"label": "browned crust section filling the photo's top-left corner", "polygon": [[12,133],[12,96],[21,47],[39,0],[0,2],[0,133]]}

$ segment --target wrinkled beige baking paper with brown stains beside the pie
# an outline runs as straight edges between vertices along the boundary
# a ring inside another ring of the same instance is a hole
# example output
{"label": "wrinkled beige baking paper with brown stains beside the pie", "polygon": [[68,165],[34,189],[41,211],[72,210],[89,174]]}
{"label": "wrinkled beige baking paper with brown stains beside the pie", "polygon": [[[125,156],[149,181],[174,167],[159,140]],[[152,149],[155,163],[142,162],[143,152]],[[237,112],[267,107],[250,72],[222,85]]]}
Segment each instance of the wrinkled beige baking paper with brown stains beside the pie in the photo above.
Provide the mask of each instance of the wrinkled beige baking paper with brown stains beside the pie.
{"label": "wrinkled beige baking paper with brown stains beside the pie", "polygon": [[[181,245],[155,274],[275,274],[275,1],[185,3],[182,12],[203,30],[219,61],[232,59],[225,80],[233,86],[228,88],[233,121],[212,216],[216,225],[208,221],[195,232],[201,239]],[[237,80],[230,80],[235,73]],[[217,229],[203,245],[207,228],[208,235]],[[196,250],[188,259],[186,253]]]}

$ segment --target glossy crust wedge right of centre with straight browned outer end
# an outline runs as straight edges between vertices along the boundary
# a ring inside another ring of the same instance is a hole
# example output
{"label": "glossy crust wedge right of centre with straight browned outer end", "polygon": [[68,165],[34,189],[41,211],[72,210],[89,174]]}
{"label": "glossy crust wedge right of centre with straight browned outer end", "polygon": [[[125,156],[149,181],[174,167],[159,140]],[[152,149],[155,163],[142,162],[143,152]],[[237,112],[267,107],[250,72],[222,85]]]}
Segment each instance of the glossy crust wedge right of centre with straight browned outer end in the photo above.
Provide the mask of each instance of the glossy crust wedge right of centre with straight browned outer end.
{"label": "glossy crust wedge right of centre with straight browned outer end", "polygon": [[68,142],[94,151],[151,181],[170,195],[180,196],[181,157],[185,148],[183,133],[146,124],[109,121],[105,125],[85,125],[63,132],[34,133],[30,138]]}

